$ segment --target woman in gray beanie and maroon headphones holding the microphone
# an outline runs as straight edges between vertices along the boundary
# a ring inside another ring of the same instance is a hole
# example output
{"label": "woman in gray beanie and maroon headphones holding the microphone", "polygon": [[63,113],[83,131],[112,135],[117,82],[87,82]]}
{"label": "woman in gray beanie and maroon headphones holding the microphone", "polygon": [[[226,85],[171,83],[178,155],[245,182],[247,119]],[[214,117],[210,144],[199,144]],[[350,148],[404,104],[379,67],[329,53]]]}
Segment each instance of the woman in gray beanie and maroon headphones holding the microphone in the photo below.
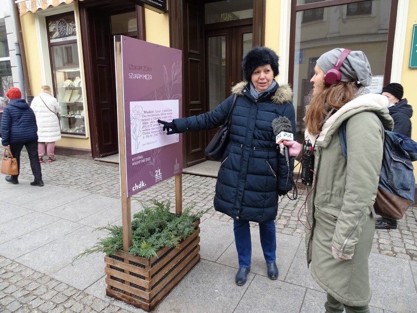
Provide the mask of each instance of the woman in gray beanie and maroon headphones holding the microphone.
{"label": "woman in gray beanie and maroon headphones holding the microphone", "polygon": [[[313,181],[306,186],[311,225],[305,236],[307,262],[314,280],[327,292],[327,313],[368,313],[368,258],[375,232],[371,209],[381,171],[383,127],[391,130],[394,123],[387,97],[366,89],[372,74],[362,51],[325,52],[314,72],[305,115],[305,141],[314,155]],[[339,137],[342,123],[347,159]],[[291,156],[301,159],[302,144],[283,144]]]}

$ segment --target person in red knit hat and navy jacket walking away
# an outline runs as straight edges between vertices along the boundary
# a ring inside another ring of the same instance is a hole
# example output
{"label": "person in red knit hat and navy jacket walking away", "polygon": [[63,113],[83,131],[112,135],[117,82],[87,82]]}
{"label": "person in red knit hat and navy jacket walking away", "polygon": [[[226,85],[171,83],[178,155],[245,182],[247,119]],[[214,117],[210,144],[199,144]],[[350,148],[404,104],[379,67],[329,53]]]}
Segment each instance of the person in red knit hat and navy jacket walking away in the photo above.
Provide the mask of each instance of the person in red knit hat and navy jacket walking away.
{"label": "person in red knit hat and navy jacket walking away", "polygon": [[[44,186],[42,180],[41,165],[38,159],[38,127],[32,109],[22,98],[19,88],[11,88],[6,96],[10,99],[9,104],[4,108],[1,118],[1,144],[3,147],[10,147],[10,151],[17,159],[20,171],[20,153],[23,146],[26,147],[29,155],[30,168],[35,177],[30,183],[32,186]],[[18,175],[6,176],[9,183],[19,184]]]}

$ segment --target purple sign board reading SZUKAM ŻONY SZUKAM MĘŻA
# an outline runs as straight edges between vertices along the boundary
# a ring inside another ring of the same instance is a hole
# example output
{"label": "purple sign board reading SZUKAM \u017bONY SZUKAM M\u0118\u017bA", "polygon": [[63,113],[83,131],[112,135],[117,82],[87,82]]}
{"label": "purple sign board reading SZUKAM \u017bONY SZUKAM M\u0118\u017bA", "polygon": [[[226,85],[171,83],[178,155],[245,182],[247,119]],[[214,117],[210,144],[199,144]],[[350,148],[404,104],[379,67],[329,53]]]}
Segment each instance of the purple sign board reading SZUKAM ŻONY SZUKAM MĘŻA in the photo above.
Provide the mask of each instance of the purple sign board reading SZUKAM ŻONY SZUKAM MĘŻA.
{"label": "purple sign board reading SZUKAM \u017bONY SZUKAM M\u0118\u017bA", "polygon": [[166,135],[158,123],[182,117],[182,51],[125,36],[120,42],[130,197],[183,171],[183,135]]}

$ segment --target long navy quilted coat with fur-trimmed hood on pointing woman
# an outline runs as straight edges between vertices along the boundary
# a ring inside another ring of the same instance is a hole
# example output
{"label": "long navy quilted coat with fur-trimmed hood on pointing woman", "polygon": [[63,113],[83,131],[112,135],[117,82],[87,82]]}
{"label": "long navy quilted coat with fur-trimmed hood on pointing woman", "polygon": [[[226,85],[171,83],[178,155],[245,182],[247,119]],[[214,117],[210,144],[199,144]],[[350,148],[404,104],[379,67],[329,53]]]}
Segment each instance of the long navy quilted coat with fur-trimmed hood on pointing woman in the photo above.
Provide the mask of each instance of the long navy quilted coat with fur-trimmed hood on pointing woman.
{"label": "long navy quilted coat with fur-trimmed hood on pointing woman", "polygon": [[[279,87],[255,100],[249,84],[232,89],[237,94],[232,112],[230,142],[217,176],[214,209],[236,219],[264,222],[277,217],[278,190],[289,191],[285,158],[279,153],[272,120],[285,116],[296,130],[292,90]],[[178,132],[221,126],[230,111],[233,95],[213,111],[174,120]],[[291,173],[294,163],[291,161]]]}

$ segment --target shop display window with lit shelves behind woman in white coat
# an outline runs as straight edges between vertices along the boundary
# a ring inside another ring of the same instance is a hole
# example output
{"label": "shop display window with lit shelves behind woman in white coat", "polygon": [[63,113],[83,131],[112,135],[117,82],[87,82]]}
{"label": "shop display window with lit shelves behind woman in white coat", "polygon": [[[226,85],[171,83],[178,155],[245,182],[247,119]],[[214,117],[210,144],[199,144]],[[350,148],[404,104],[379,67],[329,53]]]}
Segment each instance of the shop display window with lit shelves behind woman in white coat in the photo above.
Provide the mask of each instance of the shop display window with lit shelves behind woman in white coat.
{"label": "shop display window with lit shelves behind woman in white coat", "polygon": [[85,107],[74,12],[46,17],[55,96],[61,107],[61,133],[85,136]]}

